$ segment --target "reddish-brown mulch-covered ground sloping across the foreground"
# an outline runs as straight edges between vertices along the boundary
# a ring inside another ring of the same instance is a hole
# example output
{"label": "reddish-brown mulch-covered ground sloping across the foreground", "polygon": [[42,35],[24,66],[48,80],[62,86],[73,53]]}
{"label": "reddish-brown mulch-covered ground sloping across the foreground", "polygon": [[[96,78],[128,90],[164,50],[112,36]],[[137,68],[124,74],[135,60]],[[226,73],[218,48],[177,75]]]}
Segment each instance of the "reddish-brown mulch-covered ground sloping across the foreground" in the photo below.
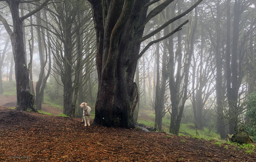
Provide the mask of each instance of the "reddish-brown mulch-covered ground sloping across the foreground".
{"label": "reddish-brown mulch-covered ground sloping across the foreground", "polygon": [[85,128],[81,119],[0,107],[0,161],[255,162],[256,153],[165,133]]}

